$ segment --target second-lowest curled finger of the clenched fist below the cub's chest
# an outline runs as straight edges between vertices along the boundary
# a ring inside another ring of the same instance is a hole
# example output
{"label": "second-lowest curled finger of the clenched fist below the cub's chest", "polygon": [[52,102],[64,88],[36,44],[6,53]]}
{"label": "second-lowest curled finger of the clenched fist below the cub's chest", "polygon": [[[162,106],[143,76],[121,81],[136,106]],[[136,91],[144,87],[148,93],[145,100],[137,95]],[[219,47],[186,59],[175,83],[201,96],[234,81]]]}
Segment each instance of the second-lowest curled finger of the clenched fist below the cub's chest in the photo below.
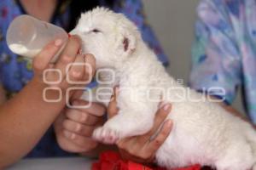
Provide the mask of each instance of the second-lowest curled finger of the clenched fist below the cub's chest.
{"label": "second-lowest curled finger of the clenched fist below the cub's chest", "polygon": [[63,121],[63,128],[71,133],[76,133],[84,137],[91,137],[94,130],[94,127],[84,126],[82,123],[73,122],[68,119]]}

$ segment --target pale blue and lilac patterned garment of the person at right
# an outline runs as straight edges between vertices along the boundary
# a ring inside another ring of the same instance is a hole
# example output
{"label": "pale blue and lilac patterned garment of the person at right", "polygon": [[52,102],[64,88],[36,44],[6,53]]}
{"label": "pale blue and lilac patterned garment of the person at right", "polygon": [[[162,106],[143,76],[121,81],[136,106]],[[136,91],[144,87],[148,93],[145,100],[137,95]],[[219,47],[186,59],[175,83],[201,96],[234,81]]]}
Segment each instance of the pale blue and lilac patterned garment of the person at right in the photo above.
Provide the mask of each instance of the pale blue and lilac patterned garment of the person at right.
{"label": "pale blue and lilac patterned garment of the person at right", "polygon": [[228,104],[241,87],[256,123],[256,1],[201,0],[197,13],[190,86],[224,88]]}

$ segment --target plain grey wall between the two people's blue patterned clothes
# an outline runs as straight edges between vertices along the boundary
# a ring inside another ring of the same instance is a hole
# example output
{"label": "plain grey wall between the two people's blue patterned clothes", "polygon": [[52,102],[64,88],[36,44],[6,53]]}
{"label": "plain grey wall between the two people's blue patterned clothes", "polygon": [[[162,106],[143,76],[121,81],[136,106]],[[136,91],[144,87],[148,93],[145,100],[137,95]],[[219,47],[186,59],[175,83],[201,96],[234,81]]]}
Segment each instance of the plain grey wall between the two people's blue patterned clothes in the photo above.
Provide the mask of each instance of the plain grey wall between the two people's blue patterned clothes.
{"label": "plain grey wall between the two people's blue patterned clothes", "polygon": [[[148,23],[153,27],[169,56],[167,71],[187,84],[190,50],[194,39],[196,7],[200,0],[143,0]],[[239,91],[234,107],[244,113]]]}

